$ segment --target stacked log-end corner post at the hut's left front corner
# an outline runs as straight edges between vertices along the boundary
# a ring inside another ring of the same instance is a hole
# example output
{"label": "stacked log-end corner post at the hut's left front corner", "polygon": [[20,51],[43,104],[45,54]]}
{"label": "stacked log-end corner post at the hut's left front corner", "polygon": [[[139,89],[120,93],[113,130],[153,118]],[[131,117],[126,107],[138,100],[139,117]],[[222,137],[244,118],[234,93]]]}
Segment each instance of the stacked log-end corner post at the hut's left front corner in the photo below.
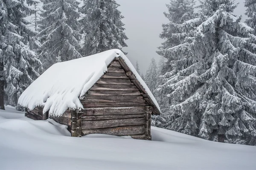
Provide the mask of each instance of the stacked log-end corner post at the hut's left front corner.
{"label": "stacked log-end corner post at the hut's left front corner", "polygon": [[71,136],[73,137],[81,137],[82,136],[82,128],[81,128],[81,109],[70,109],[71,111]]}

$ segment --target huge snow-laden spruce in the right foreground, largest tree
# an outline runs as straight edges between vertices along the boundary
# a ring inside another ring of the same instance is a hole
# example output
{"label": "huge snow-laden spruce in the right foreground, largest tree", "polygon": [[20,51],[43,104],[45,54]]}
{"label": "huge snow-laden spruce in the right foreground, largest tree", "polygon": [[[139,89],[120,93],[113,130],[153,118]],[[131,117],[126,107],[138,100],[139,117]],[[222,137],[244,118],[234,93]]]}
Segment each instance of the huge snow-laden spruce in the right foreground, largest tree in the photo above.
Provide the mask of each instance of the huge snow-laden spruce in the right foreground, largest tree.
{"label": "huge snow-laden spruce in the right foreground, largest tree", "polygon": [[[248,144],[256,136],[253,29],[232,13],[234,0],[202,0],[195,32],[168,49],[171,75],[160,91],[172,104],[166,128],[212,141]],[[198,26],[197,26],[198,25]]]}

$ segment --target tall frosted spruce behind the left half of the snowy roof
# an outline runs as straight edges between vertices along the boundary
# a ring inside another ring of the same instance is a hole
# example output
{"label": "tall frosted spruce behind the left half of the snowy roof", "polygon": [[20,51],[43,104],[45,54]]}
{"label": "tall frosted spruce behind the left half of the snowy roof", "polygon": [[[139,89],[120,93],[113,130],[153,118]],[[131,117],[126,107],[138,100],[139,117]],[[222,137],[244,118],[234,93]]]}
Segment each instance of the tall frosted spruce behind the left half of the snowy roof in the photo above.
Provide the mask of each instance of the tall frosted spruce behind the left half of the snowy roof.
{"label": "tall frosted spruce behind the left half of the snowy roof", "polygon": [[55,63],[60,55],[62,61],[81,58],[80,13],[76,0],[41,0],[43,12],[40,26],[40,42],[42,44],[40,58],[44,69]]}

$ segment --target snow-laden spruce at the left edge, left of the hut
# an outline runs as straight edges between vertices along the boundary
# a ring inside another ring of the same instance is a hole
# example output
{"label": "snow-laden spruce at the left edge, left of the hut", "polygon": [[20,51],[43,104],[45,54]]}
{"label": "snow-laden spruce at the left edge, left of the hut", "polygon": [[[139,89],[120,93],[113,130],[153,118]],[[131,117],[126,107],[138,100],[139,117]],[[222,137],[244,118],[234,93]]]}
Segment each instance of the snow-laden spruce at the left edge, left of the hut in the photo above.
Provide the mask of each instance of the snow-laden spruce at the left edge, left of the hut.
{"label": "snow-laden spruce at the left edge, left of the hut", "polygon": [[[27,0],[29,3],[29,0]],[[29,50],[29,37],[34,35],[23,19],[33,10],[23,0],[0,0],[0,103],[15,106],[20,94],[39,76],[34,67],[41,64]]]}

